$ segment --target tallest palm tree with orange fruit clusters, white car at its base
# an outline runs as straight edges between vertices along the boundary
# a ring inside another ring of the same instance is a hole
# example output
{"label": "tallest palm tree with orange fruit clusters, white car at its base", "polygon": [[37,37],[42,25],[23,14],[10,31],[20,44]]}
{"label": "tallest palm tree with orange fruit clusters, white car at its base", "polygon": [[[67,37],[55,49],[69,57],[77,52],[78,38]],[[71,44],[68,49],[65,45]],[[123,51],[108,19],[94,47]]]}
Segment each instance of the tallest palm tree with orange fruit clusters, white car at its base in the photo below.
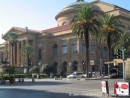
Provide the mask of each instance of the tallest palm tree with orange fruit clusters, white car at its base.
{"label": "tallest palm tree with orange fruit clusters, white car at its base", "polygon": [[81,6],[75,14],[74,18],[70,22],[72,32],[76,35],[76,38],[85,39],[86,46],[86,74],[88,78],[88,66],[89,66],[89,36],[98,35],[98,28],[101,23],[96,19],[97,10],[94,6]]}

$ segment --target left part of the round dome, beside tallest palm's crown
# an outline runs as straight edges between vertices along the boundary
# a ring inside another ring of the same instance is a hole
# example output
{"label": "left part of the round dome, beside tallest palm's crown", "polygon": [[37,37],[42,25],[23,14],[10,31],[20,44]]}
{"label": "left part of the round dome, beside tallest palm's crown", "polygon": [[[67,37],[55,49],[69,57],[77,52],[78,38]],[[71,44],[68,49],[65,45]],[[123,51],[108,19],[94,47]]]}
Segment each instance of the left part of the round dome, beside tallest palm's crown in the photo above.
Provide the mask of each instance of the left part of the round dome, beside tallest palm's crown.
{"label": "left part of the round dome, beside tallest palm's crown", "polygon": [[58,23],[58,26],[68,24],[70,20],[73,17],[73,14],[76,12],[76,9],[79,8],[82,5],[87,5],[84,0],[77,0],[74,3],[71,3],[64,7],[57,15],[56,15],[56,20]]}

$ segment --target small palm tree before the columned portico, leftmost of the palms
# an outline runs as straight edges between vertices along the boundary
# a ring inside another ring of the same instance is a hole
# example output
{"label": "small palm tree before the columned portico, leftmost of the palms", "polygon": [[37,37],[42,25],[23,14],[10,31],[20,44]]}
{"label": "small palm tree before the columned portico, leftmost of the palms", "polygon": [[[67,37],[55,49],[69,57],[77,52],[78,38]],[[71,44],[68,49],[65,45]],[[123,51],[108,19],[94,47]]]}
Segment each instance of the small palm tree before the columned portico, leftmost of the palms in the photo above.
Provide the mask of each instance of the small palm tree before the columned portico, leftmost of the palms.
{"label": "small palm tree before the columned portico, leftmost of the palms", "polygon": [[17,34],[15,32],[11,32],[8,34],[7,36],[7,40],[9,41],[9,43],[12,46],[12,66],[14,66],[14,56],[13,56],[13,47],[16,45],[16,43],[18,42],[17,40]]}

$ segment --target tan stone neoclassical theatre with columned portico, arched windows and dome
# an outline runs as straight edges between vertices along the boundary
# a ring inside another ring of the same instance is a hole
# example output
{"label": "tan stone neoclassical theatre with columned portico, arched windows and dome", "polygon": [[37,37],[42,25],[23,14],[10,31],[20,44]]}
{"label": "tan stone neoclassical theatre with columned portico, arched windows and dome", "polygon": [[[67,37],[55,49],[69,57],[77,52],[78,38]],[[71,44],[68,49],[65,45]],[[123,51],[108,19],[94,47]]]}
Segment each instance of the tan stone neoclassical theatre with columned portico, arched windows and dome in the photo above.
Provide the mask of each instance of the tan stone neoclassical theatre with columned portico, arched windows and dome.
{"label": "tan stone neoclassical theatre with columned portico, arched windows and dome", "polygon": [[[102,2],[100,0],[93,0],[90,2],[99,11],[99,17],[102,18],[104,13],[110,13],[119,17],[119,20],[126,26],[130,27],[130,11],[116,6]],[[53,66],[64,68],[68,73],[73,71],[84,71],[85,62],[85,42],[84,40],[77,40],[72,33],[69,25],[72,20],[76,8],[81,5],[89,5],[90,3],[84,0],[76,0],[64,7],[56,16],[57,26],[46,30],[32,30],[28,27],[12,27],[7,30],[2,36],[5,40],[0,45],[0,59],[12,62],[12,48],[7,41],[7,35],[10,32],[15,32],[18,35],[17,45],[14,47],[14,64],[23,72],[27,67],[27,60],[20,56],[20,50],[25,44],[33,46],[33,58],[31,59],[31,66],[42,66],[43,64],[53,64]],[[95,39],[90,39],[90,63],[89,71],[99,71],[100,59],[104,62],[108,61],[108,48],[106,45],[97,43]],[[116,58],[111,50],[111,60]],[[2,65],[1,66],[5,66]],[[112,65],[113,66],[113,65]],[[2,67],[1,67],[2,68]],[[104,71],[107,73],[107,65],[104,64]],[[1,70],[0,70],[1,71]]]}

